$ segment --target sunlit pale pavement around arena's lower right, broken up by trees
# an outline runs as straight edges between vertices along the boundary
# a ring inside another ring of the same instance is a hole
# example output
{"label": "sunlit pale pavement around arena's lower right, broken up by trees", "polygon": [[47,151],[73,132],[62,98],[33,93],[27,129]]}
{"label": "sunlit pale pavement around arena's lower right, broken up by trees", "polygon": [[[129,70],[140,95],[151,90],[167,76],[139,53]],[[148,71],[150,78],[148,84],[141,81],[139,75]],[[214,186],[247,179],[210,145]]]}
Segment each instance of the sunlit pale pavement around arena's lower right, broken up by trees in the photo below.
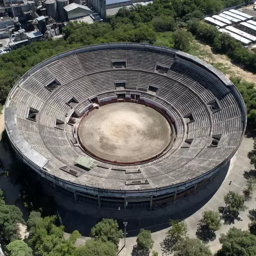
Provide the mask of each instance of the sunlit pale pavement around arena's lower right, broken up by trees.
{"label": "sunlit pale pavement around arena's lower right, broken up by trees", "polygon": [[[188,234],[189,237],[194,238],[195,237],[195,231],[197,229],[198,221],[201,219],[201,214],[205,210],[218,210],[219,206],[225,206],[223,197],[227,194],[229,190],[232,190],[237,193],[242,193],[242,189],[245,186],[246,180],[243,177],[244,171],[249,171],[252,169],[253,166],[250,165],[250,161],[247,158],[247,153],[253,148],[253,139],[245,138],[243,139],[241,146],[235,156],[230,161],[230,166],[227,172],[227,175],[221,184],[218,191],[215,193],[215,195],[200,209],[198,209],[195,213],[190,215],[185,219],[185,222],[188,227]],[[232,180],[231,185],[229,186],[229,181]],[[207,188],[210,189],[210,186],[213,186],[211,183],[207,185]],[[247,203],[247,207],[249,209],[255,208],[255,201],[251,201]],[[182,213],[182,212],[180,212]],[[235,221],[232,225],[222,225],[221,230],[216,232],[217,238],[215,241],[212,241],[209,243],[210,249],[213,253],[215,253],[221,245],[219,244],[218,238],[220,237],[221,233],[227,233],[230,227],[238,227],[243,230],[247,229],[247,224],[250,222],[248,218],[248,209],[245,212],[241,212],[239,217],[242,219],[242,221]],[[154,247],[153,250],[159,252],[161,255],[161,246],[160,243],[163,241],[163,239],[166,237],[166,232],[169,230],[169,228],[157,231],[152,233],[152,238],[154,239]],[[124,244],[124,239],[120,242],[120,248]],[[119,253],[120,256],[128,256],[131,255],[131,251],[133,249],[133,245],[136,244],[136,237],[128,237],[126,238],[126,250],[122,250],[121,253]]]}

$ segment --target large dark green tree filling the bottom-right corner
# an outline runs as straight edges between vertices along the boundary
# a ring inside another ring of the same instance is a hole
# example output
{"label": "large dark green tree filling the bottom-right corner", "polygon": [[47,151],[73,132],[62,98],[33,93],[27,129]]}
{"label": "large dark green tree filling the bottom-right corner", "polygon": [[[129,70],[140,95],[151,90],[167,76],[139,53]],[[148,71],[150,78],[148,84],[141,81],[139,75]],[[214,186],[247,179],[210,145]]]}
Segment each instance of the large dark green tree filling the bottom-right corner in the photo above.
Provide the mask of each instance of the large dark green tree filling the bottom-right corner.
{"label": "large dark green tree filling the bottom-right corner", "polygon": [[232,227],[219,238],[221,249],[217,256],[251,256],[256,253],[256,236],[249,231]]}

